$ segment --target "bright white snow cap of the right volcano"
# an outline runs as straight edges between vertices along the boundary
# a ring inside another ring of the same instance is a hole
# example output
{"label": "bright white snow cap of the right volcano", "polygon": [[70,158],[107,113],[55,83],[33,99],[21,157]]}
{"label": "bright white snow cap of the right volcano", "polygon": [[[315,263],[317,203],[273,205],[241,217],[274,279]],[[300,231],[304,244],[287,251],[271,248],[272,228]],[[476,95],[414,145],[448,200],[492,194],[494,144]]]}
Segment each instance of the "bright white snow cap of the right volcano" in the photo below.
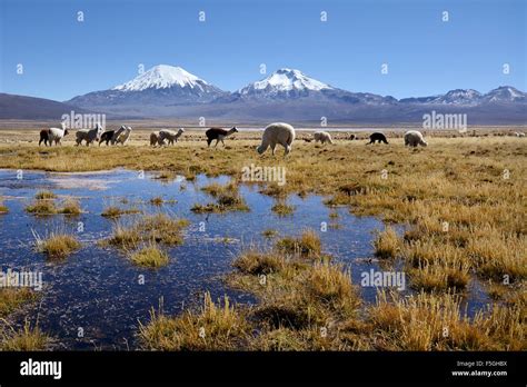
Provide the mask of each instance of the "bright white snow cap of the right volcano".
{"label": "bright white snow cap of the right volcano", "polygon": [[240,89],[241,95],[250,92],[282,92],[282,91],[320,91],[325,89],[332,89],[329,85],[312,79],[299,70],[295,69],[279,69],[264,80],[253,82]]}

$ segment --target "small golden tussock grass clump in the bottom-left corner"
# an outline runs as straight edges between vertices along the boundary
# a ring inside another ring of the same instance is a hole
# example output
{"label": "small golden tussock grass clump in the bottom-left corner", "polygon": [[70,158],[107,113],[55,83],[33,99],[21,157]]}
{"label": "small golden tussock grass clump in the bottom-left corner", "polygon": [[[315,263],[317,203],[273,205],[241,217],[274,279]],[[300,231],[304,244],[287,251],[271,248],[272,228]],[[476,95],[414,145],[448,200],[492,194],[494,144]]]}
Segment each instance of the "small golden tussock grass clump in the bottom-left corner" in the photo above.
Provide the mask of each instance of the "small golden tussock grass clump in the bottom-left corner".
{"label": "small golden tussock grass clump in the bottom-left corner", "polygon": [[38,326],[31,327],[26,320],[21,329],[12,326],[0,330],[0,349],[12,351],[46,350],[50,344],[50,337],[43,334]]}

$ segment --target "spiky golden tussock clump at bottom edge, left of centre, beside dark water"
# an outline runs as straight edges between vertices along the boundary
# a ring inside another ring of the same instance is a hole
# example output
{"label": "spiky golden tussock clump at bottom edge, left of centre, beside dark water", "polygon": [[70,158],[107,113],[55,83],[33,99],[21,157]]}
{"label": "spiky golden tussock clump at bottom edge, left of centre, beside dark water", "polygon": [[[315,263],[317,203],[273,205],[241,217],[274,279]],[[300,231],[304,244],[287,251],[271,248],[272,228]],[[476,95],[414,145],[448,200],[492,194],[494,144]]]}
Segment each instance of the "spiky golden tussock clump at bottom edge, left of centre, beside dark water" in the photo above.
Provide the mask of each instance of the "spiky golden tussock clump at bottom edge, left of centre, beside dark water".
{"label": "spiky golden tussock clump at bottom edge, left of centre, beside dark water", "polygon": [[236,350],[246,347],[250,334],[243,312],[225,296],[216,305],[209,292],[202,307],[168,317],[155,310],[147,325],[139,325],[139,339],[150,350]]}

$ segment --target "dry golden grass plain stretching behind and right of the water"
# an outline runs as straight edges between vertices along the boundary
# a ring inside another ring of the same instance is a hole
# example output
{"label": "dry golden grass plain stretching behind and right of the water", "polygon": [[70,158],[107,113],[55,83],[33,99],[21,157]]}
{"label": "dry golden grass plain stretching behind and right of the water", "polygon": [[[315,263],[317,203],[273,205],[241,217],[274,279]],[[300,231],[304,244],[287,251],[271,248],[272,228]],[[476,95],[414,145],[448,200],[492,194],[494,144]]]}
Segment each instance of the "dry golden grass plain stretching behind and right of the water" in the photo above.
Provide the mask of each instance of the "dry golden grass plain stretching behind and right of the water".
{"label": "dry golden grass plain stretching behind and right of the water", "polygon": [[[381,235],[379,247],[387,257],[400,256],[411,286],[426,291],[407,301],[381,301],[368,311],[371,319],[364,324],[340,317],[335,328],[339,334],[331,328],[326,337],[329,340],[320,341],[312,336],[319,327],[310,322],[336,315],[320,304],[302,305],[305,300],[294,291],[298,278],[306,281],[304,266],[310,266],[306,265],[309,260],[288,264],[267,275],[268,287],[259,284],[258,276],[242,274],[238,287],[269,296],[269,302],[275,302],[261,306],[267,307],[271,322],[287,321],[284,317],[288,316],[298,322],[258,336],[268,335],[266,348],[525,348],[525,337],[519,334],[521,327],[525,331],[525,316],[518,320],[518,309],[525,310],[521,290],[527,267],[525,140],[494,136],[443,138],[438,132],[426,137],[429,146],[419,149],[405,148],[400,138],[390,138],[388,147],[336,139],[330,149],[296,141],[287,159],[258,156],[256,137],[230,141],[229,149],[213,151],[205,141],[182,141],[180,147],[165,149],[136,142],[118,151],[73,148],[68,142],[46,150],[28,143],[0,145],[0,168],[86,171],[123,167],[160,170],[167,178],[182,175],[195,179],[205,173],[228,175],[239,181],[242,167],[251,163],[284,167],[286,185],[260,183],[261,192],[280,200],[290,194],[327,195],[328,206],[342,205],[359,216],[406,224],[404,237]],[[215,211],[217,205],[198,210]],[[289,254],[299,252],[296,238],[289,238],[285,246]],[[495,302],[491,312],[481,312],[474,321],[460,317],[463,312],[455,317],[459,302],[453,291],[464,288],[471,272],[484,279],[490,294],[503,302]],[[269,292],[268,288],[277,290]],[[266,315],[265,309],[261,312]],[[448,322],[450,337],[438,334],[444,321]],[[259,345],[265,347],[265,343]]]}

